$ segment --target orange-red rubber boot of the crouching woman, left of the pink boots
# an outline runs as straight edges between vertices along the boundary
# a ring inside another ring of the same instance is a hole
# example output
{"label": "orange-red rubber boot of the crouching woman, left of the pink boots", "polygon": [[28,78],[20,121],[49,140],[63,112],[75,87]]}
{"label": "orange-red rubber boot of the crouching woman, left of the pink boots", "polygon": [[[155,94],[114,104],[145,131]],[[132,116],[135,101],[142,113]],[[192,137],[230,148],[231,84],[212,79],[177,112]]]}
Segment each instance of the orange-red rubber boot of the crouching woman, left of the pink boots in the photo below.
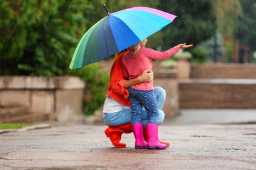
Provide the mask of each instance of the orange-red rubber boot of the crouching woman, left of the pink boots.
{"label": "orange-red rubber boot of the crouching woman, left of the pink boots", "polygon": [[106,137],[110,138],[110,141],[116,148],[125,148],[125,143],[119,143],[121,141],[121,135],[123,133],[131,133],[133,132],[133,129],[130,123],[121,126],[109,126],[104,132],[106,134]]}

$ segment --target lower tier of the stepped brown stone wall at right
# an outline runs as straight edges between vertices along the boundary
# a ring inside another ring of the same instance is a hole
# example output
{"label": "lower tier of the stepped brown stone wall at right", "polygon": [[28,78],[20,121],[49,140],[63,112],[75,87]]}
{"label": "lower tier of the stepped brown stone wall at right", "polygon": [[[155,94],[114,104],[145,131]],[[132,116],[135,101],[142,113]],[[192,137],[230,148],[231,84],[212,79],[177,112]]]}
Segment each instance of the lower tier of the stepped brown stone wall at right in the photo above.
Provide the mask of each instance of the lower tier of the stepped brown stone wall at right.
{"label": "lower tier of the stepped brown stone wall at right", "polygon": [[256,79],[179,80],[181,109],[256,109]]}

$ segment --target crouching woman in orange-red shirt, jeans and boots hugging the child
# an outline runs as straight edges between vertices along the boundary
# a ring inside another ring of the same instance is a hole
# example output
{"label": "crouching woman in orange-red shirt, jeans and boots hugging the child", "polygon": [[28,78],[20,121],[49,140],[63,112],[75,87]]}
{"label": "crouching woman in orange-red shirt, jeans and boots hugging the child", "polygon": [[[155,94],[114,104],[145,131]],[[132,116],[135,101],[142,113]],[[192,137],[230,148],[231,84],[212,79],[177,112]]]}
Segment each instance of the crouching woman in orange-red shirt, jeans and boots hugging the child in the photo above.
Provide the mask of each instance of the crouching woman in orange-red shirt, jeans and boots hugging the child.
{"label": "crouching woman in orange-red shirt, jeans and boots hugging the child", "polygon": [[[140,82],[148,82],[153,80],[154,73],[144,71],[142,75],[133,80],[125,80],[123,77],[123,65],[122,57],[124,52],[121,52],[115,59],[111,71],[110,71],[110,84],[108,92],[106,93],[106,100],[103,107],[103,120],[109,127],[106,128],[106,137],[110,138],[112,144],[117,148],[125,148],[125,143],[119,143],[121,141],[121,135],[123,133],[133,132],[131,126],[131,105],[129,101],[129,92],[127,88],[139,84]],[[165,102],[166,93],[163,88],[155,87],[154,93],[156,95],[156,101],[159,110],[158,124],[161,124],[164,120],[164,112],[161,110],[163,103]],[[144,140],[148,141],[148,135],[146,131],[146,124],[148,123],[148,114],[143,109],[142,123],[144,125]],[[160,143],[164,143],[161,142]],[[169,146],[169,143],[164,143]]]}

